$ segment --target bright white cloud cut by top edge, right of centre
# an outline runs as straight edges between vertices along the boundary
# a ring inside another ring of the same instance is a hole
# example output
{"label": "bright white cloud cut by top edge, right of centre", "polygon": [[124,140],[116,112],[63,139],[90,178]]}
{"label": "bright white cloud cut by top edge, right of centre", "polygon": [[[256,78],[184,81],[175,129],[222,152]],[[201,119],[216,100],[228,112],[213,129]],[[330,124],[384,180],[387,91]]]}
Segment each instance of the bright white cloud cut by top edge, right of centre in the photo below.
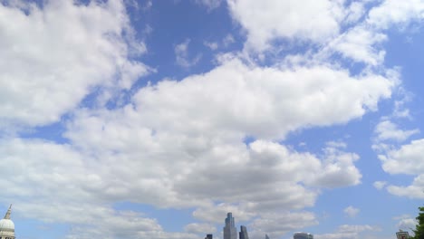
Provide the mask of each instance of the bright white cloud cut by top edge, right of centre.
{"label": "bright white cloud cut by top edge, right of centre", "polygon": [[343,15],[342,5],[328,0],[227,0],[227,4],[247,31],[247,47],[255,51],[266,50],[280,38],[326,41],[339,33]]}

